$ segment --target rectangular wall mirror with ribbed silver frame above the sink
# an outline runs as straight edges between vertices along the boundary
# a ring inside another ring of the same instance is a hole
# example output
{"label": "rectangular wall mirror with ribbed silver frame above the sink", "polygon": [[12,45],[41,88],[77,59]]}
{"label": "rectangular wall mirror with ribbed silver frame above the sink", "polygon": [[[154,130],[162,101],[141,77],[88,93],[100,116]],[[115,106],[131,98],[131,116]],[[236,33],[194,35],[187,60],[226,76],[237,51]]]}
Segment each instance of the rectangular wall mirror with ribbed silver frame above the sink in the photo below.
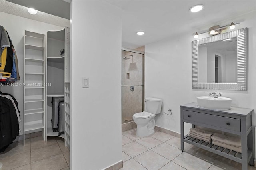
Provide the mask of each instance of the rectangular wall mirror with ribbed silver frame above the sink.
{"label": "rectangular wall mirror with ribbed silver frame above the sink", "polygon": [[192,88],[247,90],[247,28],[192,42]]}

